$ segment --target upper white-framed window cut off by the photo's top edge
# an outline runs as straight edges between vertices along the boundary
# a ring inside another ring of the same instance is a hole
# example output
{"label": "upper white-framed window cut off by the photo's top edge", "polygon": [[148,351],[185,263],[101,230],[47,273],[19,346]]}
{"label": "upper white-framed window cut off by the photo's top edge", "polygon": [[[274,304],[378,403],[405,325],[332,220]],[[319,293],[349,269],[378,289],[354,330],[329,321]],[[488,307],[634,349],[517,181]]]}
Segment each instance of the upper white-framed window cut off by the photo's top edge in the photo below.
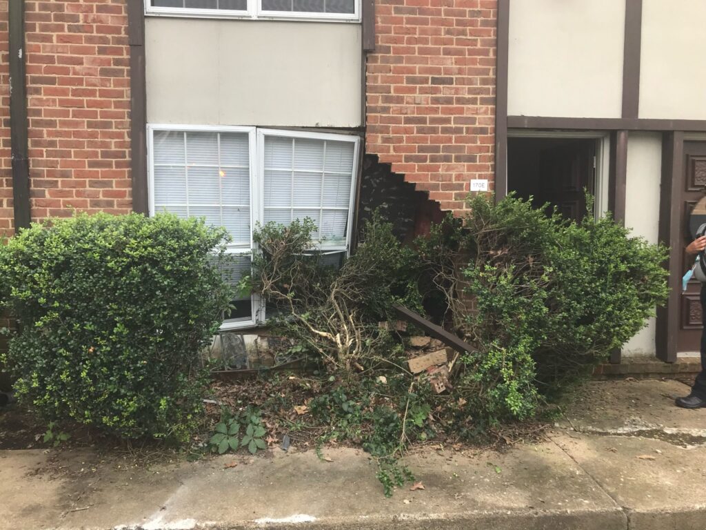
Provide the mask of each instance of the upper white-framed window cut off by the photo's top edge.
{"label": "upper white-framed window cut off by the photo's top edge", "polygon": [[148,15],[360,20],[360,0],[145,0]]}

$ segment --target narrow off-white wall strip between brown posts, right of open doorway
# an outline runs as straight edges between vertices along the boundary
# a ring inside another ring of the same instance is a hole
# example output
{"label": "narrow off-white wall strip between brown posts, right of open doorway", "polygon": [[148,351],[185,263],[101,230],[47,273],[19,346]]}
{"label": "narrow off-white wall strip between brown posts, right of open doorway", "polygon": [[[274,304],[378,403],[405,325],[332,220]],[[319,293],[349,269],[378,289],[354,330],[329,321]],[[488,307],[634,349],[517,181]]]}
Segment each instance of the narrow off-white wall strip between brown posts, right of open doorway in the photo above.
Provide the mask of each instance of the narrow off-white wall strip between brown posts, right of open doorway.
{"label": "narrow off-white wall strip between brown posts, right of open doorway", "polygon": [[[662,135],[630,131],[626,179],[625,224],[633,235],[657,243]],[[623,355],[654,355],[654,318],[623,347]]]}

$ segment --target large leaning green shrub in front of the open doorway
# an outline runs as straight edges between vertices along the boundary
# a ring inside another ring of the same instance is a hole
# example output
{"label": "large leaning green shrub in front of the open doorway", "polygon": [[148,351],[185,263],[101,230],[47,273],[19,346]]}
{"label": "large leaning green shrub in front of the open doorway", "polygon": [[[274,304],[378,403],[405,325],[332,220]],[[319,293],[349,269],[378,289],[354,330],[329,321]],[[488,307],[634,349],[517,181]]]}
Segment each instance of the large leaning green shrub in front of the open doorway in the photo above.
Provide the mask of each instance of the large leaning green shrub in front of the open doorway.
{"label": "large leaning green shrub in front of the open doorway", "polygon": [[462,358],[454,393],[481,423],[530,418],[666,300],[666,249],[609,216],[568,222],[513,196],[474,196],[469,208],[463,226],[448,219],[418,243],[457,331],[478,347]]}

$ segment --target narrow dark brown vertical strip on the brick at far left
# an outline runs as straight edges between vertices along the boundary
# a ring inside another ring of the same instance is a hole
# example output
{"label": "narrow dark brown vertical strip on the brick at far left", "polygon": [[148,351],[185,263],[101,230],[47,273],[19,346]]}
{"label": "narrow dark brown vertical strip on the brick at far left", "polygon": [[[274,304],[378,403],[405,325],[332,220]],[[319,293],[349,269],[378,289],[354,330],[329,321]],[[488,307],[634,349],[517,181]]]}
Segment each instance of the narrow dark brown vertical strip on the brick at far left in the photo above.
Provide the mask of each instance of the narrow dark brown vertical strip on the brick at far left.
{"label": "narrow dark brown vertical strip on the brick at far left", "polygon": [[10,145],[15,230],[30,225],[30,161],[28,153],[27,86],[25,76],[25,2],[8,6],[10,54]]}

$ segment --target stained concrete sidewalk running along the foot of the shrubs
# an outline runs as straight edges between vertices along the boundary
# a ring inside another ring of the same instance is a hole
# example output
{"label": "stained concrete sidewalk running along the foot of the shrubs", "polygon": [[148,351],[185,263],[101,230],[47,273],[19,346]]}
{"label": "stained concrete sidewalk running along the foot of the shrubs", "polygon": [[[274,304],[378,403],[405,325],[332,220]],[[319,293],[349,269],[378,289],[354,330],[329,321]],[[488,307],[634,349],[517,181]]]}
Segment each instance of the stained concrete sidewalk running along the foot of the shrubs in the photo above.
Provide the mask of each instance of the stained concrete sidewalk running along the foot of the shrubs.
{"label": "stained concrete sidewalk running along the foot of the shrubs", "polygon": [[686,391],[593,382],[549,440],[503,454],[430,447],[408,459],[424,490],[390,499],[354,449],[148,469],[88,451],[5,451],[0,528],[700,529],[706,410],[675,408]]}

